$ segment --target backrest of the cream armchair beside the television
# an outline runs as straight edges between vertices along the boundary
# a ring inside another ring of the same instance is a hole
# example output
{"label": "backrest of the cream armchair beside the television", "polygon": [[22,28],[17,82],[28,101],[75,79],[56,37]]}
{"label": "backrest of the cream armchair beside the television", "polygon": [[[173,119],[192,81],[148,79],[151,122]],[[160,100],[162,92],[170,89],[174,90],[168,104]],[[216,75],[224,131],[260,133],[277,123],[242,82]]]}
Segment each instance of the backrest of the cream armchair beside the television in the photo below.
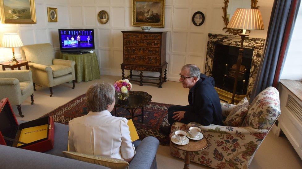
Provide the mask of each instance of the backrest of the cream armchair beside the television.
{"label": "backrest of the cream armchair beside the television", "polygon": [[50,66],[54,59],[54,48],[50,43],[22,46],[26,60],[32,63]]}

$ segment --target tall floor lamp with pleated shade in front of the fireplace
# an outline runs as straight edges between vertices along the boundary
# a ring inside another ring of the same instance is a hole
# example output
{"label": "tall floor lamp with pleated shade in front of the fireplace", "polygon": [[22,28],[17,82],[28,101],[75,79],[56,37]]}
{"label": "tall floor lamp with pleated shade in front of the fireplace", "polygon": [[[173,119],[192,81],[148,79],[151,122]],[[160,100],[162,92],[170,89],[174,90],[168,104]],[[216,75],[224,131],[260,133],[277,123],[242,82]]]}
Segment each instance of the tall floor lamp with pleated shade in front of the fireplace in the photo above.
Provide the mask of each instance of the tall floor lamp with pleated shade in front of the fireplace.
{"label": "tall floor lamp with pleated shade in front of the fireplace", "polygon": [[259,9],[236,9],[234,15],[231,18],[231,21],[226,26],[227,28],[232,29],[242,29],[242,34],[238,34],[241,36],[241,46],[239,49],[239,54],[237,58],[237,69],[235,74],[235,82],[234,82],[234,90],[232,95],[231,104],[234,104],[237,81],[239,76],[239,68],[242,62],[242,52],[243,52],[243,42],[246,36],[246,30],[264,30],[264,24],[262,20],[262,16]]}

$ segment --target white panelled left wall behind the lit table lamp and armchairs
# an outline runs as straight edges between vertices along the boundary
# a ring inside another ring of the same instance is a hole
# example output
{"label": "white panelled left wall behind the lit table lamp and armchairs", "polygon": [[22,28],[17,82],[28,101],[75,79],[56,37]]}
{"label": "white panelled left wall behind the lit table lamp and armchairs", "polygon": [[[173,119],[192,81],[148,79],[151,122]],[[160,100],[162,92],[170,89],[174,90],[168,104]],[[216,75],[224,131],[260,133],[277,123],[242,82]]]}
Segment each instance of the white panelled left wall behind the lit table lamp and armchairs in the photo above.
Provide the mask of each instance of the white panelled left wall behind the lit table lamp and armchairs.
{"label": "white panelled left wall behind the lit table lamp and armchairs", "polygon": [[[36,24],[1,24],[0,39],[3,33],[19,33],[24,45],[51,43],[54,50],[59,50],[58,29],[69,28],[69,13],[67,0],[35,0]],[[58,8],[58,22],[48,22],[47,7]],[[82,14],[80,13],[80,16]],[[20,49],[15,48],[16,58],[21,58]],[[0,47],[0,62],[12,58],[10,48]]]}

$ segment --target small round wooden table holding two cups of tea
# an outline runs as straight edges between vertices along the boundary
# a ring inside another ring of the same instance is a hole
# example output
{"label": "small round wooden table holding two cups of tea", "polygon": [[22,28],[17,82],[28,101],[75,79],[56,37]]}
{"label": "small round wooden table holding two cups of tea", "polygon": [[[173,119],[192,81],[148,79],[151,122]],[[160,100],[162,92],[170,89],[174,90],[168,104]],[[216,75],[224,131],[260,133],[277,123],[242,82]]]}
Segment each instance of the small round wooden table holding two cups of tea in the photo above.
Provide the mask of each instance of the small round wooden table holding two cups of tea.
{"label": "small round wooden table holding two cups of tea", "polygon": [[189,139],[190,142],[188,144],[186,144],[186,145],[177,145],[177,144],[174,144],[171,141],[171,137],[173,135],[175,135],[175,134],[172,133],[170,135],[170,144],[172,144],[174,147],[178,148],[179,150],[186,151],[183,168],[184,169],[189,169],[190,153],[192,153],[193,151],[201,151],[201,150],[205,149],[208,146],[208,143],[209,143],[208,139],[205,136],[203,136],[203,138],[201,140]]}

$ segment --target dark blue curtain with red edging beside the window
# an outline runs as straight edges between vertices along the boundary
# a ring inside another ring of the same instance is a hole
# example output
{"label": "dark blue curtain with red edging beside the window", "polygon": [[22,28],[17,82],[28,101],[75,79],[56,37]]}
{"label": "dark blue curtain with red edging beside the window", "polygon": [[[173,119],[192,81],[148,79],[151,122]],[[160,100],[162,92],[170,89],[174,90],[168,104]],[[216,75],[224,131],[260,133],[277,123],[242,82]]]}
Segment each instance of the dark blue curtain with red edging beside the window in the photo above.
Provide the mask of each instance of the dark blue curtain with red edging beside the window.
{"label": "dark blue curtain with red edging beside the window", "polygon": [[301,0],[274,0],[263,56],[258,68],[250,103],[265,88],[280,80],[287,49]]}

